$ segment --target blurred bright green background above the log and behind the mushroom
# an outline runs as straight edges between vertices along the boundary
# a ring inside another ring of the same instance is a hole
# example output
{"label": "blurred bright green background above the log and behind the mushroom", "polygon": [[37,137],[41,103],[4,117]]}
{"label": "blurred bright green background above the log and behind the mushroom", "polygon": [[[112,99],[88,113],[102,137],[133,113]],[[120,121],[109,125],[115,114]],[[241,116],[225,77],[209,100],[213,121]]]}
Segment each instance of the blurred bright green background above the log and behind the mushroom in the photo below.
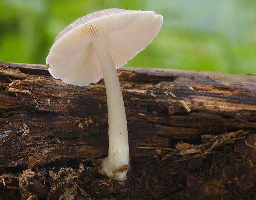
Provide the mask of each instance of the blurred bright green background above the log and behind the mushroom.
{"label": "blurred bright green background above the log and behind the mushroom", "polygon": [[256,73],[256,0],[0,0],[0,59],[44,64],[62,28],[104,8],[164,17],[128,67]]}

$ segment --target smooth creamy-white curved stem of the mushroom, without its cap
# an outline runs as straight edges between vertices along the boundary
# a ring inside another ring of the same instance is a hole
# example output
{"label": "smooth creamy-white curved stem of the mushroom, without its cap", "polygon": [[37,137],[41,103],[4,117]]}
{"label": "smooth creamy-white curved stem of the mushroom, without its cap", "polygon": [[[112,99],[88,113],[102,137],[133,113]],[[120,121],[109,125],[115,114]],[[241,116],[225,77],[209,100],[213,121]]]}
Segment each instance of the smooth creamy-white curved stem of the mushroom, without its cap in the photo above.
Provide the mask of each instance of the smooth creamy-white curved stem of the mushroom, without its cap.
{"label": "smooth creamy-white curved stem of the mushroom, without its cap", "polygon": [[125,172],[114,173],[123,165],[129,165],[129,145],[125,106],[122,90],[105,38],[95,40],[93,47],[99,59],[104,76],[108,102],[108,157],[104,158],[102,169],[108,177],[125,180]]}

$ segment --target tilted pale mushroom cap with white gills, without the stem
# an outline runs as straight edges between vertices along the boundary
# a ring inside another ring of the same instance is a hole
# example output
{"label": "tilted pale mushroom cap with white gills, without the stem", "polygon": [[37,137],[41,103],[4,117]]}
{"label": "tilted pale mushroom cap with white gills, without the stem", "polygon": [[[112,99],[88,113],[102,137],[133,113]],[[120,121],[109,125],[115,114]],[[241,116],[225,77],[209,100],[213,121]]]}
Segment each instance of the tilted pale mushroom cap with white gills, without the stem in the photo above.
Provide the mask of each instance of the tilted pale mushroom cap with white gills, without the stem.
{"label": "tilted pale mushroom cap with white gills, without the stem", "polygon": [[46,63],[50,74],[73,85],[88,85],[103,78],[91,42],[104,38],[116,69],[122,67],[157,36],[163,16],[153,11],[111,8],[80,17],[56,37]]}

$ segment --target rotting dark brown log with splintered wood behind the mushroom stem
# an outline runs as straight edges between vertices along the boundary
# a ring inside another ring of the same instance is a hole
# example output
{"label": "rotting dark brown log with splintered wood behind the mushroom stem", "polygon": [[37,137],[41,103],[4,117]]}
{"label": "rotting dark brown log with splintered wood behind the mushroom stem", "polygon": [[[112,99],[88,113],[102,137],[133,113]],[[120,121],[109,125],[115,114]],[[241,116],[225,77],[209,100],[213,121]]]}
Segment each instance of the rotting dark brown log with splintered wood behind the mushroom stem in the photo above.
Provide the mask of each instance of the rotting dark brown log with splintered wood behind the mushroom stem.
{"label": "rotting dark brown log with splintered wood behind the mushroom stem", "polygon": [[256,198],[256,76],[122,68],[119,80],[131,155],[124,185],[100,169],[103,81],[67,85],[46,65],[0,62],[0,198]]}

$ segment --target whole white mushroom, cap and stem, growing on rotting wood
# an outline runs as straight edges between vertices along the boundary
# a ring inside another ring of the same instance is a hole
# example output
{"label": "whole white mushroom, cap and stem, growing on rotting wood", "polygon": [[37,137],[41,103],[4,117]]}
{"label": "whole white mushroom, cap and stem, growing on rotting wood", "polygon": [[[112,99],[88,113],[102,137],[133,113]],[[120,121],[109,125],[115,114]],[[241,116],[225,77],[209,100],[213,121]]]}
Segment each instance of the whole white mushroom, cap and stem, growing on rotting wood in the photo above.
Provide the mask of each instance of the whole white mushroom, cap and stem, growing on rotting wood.
{"label": "whole white mushroom, cap and stem, growing on rotting wood", "polygon": [[46,59],[50,74],[68,84],[84,86],[104,77],[109,149],[102,169],[116,180],[125,180],[127,171],[118,169],[129,166],[125,106],[116,69],[143,51],[162,23],[162,15],[153,11],[96,11],[64,28]]}

